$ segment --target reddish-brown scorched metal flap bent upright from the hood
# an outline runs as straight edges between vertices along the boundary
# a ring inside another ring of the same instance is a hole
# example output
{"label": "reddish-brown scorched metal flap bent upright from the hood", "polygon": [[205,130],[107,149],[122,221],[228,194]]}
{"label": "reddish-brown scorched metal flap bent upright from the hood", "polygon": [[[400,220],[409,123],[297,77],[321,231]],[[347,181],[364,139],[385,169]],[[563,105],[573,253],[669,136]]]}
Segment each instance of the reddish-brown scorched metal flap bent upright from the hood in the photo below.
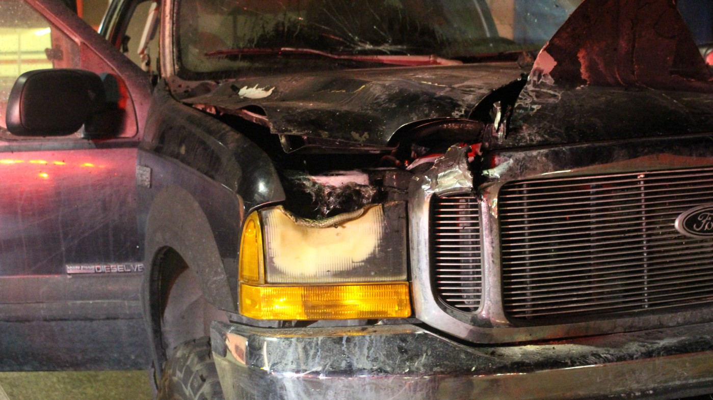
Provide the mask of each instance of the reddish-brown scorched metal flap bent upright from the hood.
{"label": "reddish-brown scorched metal flap bent upright from the hood", "polygon": [[713,92],[673,0],[588,0],[545,44],[531,80]]}

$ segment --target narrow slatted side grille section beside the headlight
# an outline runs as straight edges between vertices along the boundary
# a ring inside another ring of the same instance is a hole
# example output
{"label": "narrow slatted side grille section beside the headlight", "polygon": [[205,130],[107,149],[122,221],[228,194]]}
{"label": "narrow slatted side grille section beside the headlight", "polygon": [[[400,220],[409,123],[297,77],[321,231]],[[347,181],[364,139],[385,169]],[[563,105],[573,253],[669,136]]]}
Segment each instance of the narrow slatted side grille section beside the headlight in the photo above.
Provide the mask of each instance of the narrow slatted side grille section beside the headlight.
{"label": "narrow slatted side grille section beside the headlight", "polygon": [[436,294],[466,312],[481,305],[481,227],[474,196],[431,200],[431,276]]}

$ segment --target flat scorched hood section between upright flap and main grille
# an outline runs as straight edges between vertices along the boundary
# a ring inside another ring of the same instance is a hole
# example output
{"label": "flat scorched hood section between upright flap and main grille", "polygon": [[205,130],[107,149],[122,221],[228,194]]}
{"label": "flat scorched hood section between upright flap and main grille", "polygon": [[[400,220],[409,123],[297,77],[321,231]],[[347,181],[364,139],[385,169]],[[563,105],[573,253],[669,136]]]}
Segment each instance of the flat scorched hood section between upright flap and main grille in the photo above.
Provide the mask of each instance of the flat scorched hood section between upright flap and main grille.
{"label": "flat scorched hood section between upright flap and main grille", "polygon": [[525,89],[503,140],[491,149],[710,132],[713,97],[704,93],[583,86]]}

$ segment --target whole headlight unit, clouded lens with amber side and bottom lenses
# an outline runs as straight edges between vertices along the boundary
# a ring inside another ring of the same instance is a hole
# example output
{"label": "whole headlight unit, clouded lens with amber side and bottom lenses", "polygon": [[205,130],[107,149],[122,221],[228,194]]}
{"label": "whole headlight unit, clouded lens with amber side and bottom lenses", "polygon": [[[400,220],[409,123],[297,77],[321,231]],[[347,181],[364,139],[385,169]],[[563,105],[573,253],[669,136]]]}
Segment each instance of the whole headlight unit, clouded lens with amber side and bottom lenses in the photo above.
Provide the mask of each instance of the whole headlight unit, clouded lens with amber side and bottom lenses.
{"label": "whole headlight unit, clouded lens with amber side and bottom lenses", "polygon": [[402,203],[324,221],[298,219],[282,206],[251,214],[240,312],[267,320],[408,317],[405,217]]}

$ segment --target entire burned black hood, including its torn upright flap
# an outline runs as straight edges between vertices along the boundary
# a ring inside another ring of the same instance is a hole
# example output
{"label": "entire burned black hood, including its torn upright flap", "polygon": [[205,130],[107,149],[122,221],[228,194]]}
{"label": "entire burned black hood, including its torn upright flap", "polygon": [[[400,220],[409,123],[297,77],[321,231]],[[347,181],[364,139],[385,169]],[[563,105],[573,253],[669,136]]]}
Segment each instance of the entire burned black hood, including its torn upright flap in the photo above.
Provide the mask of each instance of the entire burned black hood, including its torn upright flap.
{"label": "entire burned black hood, including its torn upright flap", "polygon": [[468,118],[505,121],[486,128],[491,149],[713,131],[711,75],[673,0],[585,0],[527,85],[523,72],[483,63],[275,75],[183,102],[342,149],[383,149],[405,125]]}

